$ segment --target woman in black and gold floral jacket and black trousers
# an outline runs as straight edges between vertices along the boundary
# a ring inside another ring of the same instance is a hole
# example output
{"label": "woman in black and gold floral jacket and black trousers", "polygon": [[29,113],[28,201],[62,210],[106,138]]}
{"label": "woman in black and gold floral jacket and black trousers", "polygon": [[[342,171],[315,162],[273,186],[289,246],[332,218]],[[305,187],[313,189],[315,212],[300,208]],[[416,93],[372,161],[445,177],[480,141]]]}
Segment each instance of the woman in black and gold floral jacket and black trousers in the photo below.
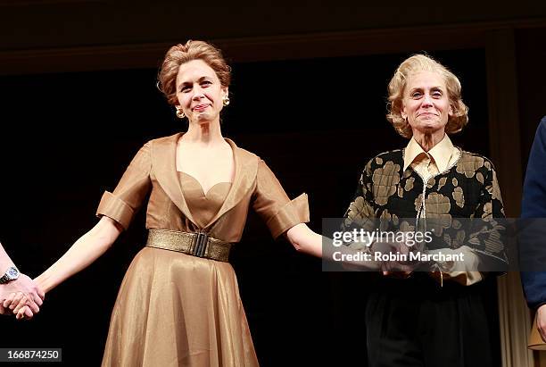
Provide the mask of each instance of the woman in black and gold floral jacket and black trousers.
{"label": "woman in black and gold floral jacket and black trousers", "polygon": [[426,254],[459,254],[464,262],[428,263],[426,271],[416,271],[422,263],[397,263],[369,280],[368,363],[490,366],[476,283],[487,264],[506,264],[494,167],[451,144],[447,134],[467,124],[467,106],[459,79],[442,64],[422,54],[409,57],[393,75],[389,101],[387,119],[409,138],[408,146],[366,164],[344,228],[378,219],[382,227],[389,221],[401,231],[428,230],[434,241],[422,249]]}

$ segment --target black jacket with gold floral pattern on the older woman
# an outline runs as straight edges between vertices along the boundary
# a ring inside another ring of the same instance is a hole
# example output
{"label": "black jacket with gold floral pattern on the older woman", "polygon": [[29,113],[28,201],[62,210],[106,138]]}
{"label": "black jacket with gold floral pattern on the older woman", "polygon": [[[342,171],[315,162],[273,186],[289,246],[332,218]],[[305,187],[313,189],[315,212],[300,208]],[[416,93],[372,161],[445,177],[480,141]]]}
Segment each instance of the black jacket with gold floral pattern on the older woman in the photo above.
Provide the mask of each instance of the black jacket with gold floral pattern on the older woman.
{"label": "black jacket with gold floral pattern on the older woman", "polygon": [[[375,230],[374,220],[380,218],[379,226],[383,229],[400,224],[401,230],[409,231],[418,225],[434,229],[434,237],[451,248],[470,246],[480,254],[492,255],[495,261],[506,258],[501,241],[505,229],[496,220],[504,216],[501,189],[490,161],[461,151],[459,161],[433,176],[424,191],[419,185],[422,178],[411,167],[403,171],[401,178],[402,166],[400,150],[380,154],[368,162],[345,224],[364,222],[361,227],[366,228],[372,223],[373,229],[368,230]],[[459,218],[454,218],[454,213]],[[466,221],[460,218],[474,218],[472,226],[467,228]],[[482,228],[476,229],[476,225]]]}

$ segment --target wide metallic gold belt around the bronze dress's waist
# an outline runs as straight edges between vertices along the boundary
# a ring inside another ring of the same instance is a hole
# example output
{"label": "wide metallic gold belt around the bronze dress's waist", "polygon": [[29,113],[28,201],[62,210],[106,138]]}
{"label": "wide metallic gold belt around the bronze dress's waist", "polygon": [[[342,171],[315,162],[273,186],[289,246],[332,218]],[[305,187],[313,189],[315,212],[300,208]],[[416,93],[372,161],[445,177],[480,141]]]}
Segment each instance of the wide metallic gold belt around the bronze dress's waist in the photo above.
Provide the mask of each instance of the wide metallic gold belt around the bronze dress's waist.
{"label": "wide metallic gold belt around the bronze dress's waist", "polygon": [[227,262],[232,245],[229,242],[211,238],[205,232],[188,233],[169,229],[150,229],[146,246]]}

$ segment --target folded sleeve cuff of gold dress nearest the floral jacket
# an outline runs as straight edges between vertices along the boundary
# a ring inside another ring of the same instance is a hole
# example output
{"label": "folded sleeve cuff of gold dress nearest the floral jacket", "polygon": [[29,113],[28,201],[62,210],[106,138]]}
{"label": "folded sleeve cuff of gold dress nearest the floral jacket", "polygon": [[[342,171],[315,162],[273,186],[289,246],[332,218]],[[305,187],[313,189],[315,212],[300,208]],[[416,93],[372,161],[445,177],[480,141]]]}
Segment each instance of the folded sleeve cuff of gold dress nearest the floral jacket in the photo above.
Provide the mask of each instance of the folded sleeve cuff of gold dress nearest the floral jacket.
{"label": "folded sleeve cuff of gold dress nearest the floral jacket", "polygon": [[267,225],[273,238],[277,238],[296,224],[308,221],[309,203],[307,194],[302,194],[280,208],[277,214],[269,218]]}

